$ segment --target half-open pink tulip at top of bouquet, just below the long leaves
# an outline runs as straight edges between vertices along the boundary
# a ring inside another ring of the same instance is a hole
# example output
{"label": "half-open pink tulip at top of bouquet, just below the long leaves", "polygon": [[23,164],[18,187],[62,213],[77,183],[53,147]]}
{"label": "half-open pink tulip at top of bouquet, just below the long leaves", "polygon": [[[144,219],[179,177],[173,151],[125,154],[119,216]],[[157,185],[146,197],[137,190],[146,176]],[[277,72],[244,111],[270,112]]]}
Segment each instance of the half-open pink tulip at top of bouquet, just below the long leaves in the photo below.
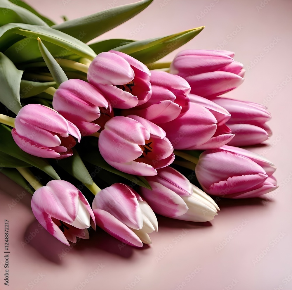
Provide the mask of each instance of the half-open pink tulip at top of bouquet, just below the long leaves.
{"label": "half-open pink tulip at top of bouquet, just below the long leaves", "polygon": [[102,52],[89,65],[87,79],[113,108],[141,105],[151,96],[150,71],[146,65],[120,51]]}

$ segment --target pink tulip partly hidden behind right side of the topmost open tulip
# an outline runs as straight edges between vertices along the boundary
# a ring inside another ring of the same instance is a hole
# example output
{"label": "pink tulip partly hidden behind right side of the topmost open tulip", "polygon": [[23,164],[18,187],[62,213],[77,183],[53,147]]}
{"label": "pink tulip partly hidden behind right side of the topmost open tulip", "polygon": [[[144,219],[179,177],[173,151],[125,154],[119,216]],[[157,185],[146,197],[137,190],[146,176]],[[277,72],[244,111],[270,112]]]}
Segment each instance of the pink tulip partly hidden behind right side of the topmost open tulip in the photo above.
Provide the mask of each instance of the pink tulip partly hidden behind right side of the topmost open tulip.
{"label": "pink tulip partly hidden behind right side of the topmost open tulip", "polygon": [[151,71],[151,98],[144,104],[125,110],[123,115],[138,115],[155,124],[172,121],[190,108],[190,85],[182,77],[163,71]]}

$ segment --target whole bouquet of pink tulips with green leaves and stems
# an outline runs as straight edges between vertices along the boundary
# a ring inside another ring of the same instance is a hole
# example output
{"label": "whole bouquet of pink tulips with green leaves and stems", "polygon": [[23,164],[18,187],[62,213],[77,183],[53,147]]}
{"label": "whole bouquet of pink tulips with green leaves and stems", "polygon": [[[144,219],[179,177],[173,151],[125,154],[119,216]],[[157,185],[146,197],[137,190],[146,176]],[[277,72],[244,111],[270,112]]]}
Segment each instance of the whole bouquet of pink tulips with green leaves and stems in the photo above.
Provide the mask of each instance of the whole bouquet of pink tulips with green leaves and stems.
{"label": "whole bouquet of pink tulips with green leaves and stems", "polygon": [[1,173],[32,194],[36,219],[65,244],[96,225],[150,244],[155,213],[205,222],[221,198],[277,187],[274,165],[240,148],[268,139],[271,116],[223,95],[244,81],[234,53],[183,50],[159,61],[204,27],[86,44],[152,1],[56,25],[25,2],[0,0]]}

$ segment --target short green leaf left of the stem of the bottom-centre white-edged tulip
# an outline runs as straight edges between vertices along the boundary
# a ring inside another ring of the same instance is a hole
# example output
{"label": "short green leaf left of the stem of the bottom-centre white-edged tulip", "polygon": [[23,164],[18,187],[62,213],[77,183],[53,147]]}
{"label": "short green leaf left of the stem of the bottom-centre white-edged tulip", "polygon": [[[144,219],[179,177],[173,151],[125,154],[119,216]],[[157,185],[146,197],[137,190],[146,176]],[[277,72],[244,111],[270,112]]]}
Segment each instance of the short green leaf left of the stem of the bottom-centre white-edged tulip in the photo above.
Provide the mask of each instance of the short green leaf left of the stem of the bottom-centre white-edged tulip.
{"label": "short green leaf left of the stem of the bottom-centre white-edged tulip", "polygon": [[73,149],[72,156],[58,160],[58,165],[82,183],[93,184],[91,175],[75,149]]}

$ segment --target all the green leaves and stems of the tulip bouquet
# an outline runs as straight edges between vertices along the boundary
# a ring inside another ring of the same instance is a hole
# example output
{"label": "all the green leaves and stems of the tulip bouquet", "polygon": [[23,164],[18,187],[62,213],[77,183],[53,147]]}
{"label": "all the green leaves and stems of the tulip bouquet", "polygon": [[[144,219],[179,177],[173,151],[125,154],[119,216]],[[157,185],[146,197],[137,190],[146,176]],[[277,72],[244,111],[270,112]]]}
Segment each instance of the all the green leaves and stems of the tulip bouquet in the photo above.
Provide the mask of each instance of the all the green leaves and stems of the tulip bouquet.
{"label": "all the green leaves and stems of the tulip bouquet", "polygon": [[[55,65],[60,59],[92,61],[98,53],[115,49],[133,56],[150,69],[169,67],[169,63],[157,64],[156,61],[190,41],[204,27],[140,41],[107,39],[86,44],[137,15],[152,1],[142,0],[55,24],[23,1],[0,0],[0,113],[15,117],[22,106],[28,103],[51,106],[51,100],[44,91],[49,87],[57,88],[58,76],[62,76],[64,72],[69,78],[86,79],[85,72]],[[37,41],[38,37],[41,45]],[[50,66],[52,69],[48,69]],[[93,164],[95,168],[103,168],[108,174],[114,174],[115,180],[122,177],[150,188],[143,177],[120,172],[108,165],[93,142],[83,143],[87,150],[79,150],[82,159],[74,150],[72,157],[50,160],[49,163],[44,158],[32,156],[19,149],[11,136],[10,127],[0,124],[0,134],[0,172],[30,193],[33,193],[33,189],[15,168],[34,166],[51,178],[60,179],[55,169],[61,167],[80,182],[92,184],[91,174],[83,161]],[[112,178],[108,174],[104,178]]]}

